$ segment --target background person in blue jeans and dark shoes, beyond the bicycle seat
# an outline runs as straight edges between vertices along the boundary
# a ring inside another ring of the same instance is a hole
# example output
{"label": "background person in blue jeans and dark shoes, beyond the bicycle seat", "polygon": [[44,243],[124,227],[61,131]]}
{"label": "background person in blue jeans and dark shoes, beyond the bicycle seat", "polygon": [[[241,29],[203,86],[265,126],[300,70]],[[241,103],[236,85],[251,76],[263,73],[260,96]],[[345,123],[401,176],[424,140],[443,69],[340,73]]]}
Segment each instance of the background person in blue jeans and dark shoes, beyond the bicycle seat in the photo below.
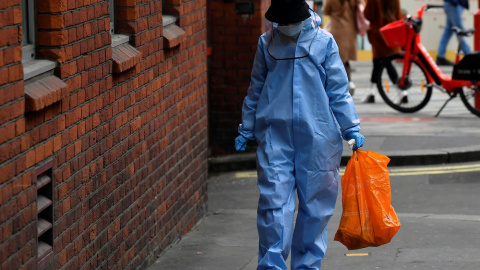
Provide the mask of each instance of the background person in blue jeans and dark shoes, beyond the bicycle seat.
{"label": "background person in blue jeans and dark shoes, beyond the bicycle seat", "polygon": [[[452,27],[458,27],[460,29],[464,29],[463,22],[462,22],[462,13],[463,9],[468,9],[468,0],[444,0],[443,1],[443,9],[445,10],[445,14],[447,15],[445,29],[443,30],[442,38],[440,39],[440,45],[438,46],[438,54],[437,54],[437,65],[439,66],[451,66],[453,65],[452,62],[448,61],[445,58],[445,54],[447,51],[448,41],[453,35]],[[457,39],[460,39],[457,35]],[[470,52],[470,47],[465,40],[465,37],[462,37],[461,42],[461,49],[462,51],[467,54]]]}

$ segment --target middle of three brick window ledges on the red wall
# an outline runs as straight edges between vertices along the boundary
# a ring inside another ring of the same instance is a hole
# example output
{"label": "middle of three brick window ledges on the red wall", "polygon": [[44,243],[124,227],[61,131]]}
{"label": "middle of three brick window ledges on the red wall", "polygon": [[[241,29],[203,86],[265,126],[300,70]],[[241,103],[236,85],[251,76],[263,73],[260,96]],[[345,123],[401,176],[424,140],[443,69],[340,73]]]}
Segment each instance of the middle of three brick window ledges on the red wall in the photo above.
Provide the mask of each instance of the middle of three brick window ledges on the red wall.
{"label": "middle of three brick window ledges on the red wall", "polygon": [[113,72],[120,73],[140,63],[142,60],[142,53],[128,43],[124,43],[112,47],[112,57]]}

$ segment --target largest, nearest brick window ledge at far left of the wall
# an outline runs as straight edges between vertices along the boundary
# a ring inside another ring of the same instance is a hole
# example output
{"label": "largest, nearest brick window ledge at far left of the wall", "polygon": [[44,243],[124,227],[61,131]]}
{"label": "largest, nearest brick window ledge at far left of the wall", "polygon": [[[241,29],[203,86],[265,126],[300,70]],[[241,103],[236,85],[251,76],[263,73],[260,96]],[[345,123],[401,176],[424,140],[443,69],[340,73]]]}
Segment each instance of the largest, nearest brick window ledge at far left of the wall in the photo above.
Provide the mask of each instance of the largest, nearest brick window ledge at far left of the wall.
{"label": "largest, nearest brick window ledge at far left of the wall", "polygon": [[68,96],[68,86],[55,76],[25,85],[25,112],[36,112]]}

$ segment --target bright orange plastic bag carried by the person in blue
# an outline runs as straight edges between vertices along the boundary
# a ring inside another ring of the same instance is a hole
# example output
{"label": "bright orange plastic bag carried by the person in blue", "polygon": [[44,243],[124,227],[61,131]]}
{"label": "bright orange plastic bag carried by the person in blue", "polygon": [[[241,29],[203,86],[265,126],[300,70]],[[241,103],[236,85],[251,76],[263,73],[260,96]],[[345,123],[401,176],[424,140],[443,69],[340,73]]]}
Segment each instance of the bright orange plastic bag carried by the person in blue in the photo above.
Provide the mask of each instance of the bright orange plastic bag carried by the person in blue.
{"label": "bright orange plastic bag carried by the person in blue", "polygon": [[390,159],[373,151],[353,152],[342,177],[342,218],[335,241],[349,250],[384,245],[400,229],[391,205]]}

